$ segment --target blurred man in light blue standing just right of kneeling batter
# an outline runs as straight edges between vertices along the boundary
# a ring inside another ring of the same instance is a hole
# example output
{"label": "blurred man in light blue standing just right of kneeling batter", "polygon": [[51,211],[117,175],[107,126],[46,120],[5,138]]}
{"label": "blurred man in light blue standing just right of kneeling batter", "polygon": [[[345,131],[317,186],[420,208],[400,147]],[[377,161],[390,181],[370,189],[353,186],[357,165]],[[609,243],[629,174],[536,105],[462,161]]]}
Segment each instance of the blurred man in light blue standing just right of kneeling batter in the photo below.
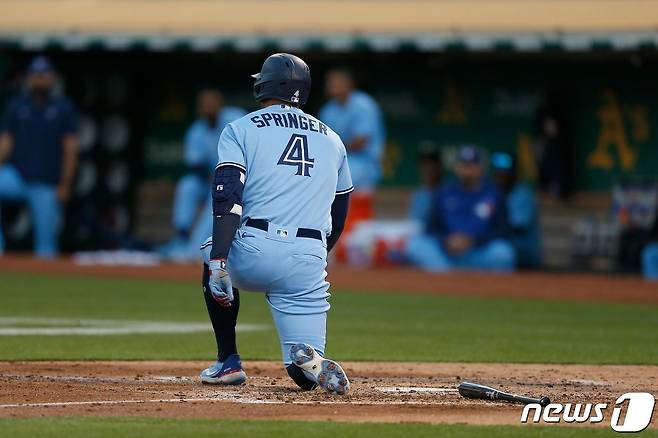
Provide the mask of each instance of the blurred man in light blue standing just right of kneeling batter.
{"label": "blurred man in light blue standing just right of kneeling batter", "polygon": [[[329,71],[325,79],[329,102],[319,112],[319,118],[340,136],[347,149],[354,192],[345,223],[346,235],[359,222],[374,217],[373,194],[381,178],[381,159],[386,143],[379,105],[372,96],[355,89],[355,86],[351,71]],[[339,260],[345,259],[343,248],[342,245],[338,247]]]}

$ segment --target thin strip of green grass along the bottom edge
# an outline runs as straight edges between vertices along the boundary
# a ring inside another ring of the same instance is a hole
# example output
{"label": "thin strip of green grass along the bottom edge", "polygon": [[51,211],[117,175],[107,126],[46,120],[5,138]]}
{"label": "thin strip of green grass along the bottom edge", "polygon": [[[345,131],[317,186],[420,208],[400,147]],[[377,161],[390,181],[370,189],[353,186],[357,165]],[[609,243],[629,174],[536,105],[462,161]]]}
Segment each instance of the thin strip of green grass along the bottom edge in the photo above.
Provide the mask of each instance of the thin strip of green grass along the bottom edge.
{"label": "thin strip of green grass along the bottom edge", "polygon": [[[64,417],[0,419],[0,430],[11,437],[603,437],[618,436],[610,429],[539,426],[464,426],[432,424],[333,423],[260,420],[172,420],[155,418]],[[643,437],[655,437],[655,429]]]}

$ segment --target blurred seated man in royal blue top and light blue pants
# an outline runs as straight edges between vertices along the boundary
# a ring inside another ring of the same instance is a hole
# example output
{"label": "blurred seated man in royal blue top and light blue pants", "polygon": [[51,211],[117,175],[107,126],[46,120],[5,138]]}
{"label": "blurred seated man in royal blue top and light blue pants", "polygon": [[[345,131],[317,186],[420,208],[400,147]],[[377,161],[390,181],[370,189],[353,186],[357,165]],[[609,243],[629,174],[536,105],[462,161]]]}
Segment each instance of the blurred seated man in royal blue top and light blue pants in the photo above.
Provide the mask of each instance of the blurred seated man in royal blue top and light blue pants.
{"label": "blurred seated man in royal blue top and light blue pants", "polygon": [[512,271],[514,249],[505,240],[507,212],[500,191],[485,176],[482,153],[458,152],[456,179],[439,189],[426,233],[407,242],[407,258],[422,269]]}

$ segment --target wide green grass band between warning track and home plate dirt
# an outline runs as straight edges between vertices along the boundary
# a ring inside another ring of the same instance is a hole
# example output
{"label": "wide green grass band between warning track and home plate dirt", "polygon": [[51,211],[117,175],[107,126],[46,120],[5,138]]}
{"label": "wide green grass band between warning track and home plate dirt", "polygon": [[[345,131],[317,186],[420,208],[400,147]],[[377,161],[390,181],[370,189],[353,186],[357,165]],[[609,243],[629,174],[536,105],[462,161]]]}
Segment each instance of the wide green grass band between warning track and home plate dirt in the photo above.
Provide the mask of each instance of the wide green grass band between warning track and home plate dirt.
{"label": "wide green grass band between warning track and home plate dirt", "polygon": [[[465,281],[468,281],[465,278]],[[658,364],[658,306],[334,291],[340,360]],[[0,317],[206,321],[195,283],[0,273]],[[243,293],[245,359],[280,358],[261,294]],[[210,359],[210,333],[0,336],[0,360]]]}

